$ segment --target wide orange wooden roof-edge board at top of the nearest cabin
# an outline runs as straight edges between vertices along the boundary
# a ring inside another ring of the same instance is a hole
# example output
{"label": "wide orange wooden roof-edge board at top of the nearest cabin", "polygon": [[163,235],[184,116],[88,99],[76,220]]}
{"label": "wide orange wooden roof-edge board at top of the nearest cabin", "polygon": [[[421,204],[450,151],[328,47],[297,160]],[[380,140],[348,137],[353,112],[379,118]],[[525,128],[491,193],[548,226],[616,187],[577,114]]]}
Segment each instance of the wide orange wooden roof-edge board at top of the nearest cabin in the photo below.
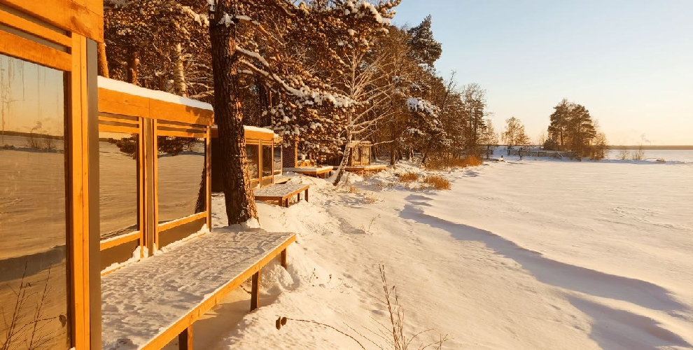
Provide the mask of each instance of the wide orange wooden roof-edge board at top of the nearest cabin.
{"label": "wide orange wooden roof-edge board at top of the nearest cabin", "polygon": [[39,18],[50,25],[104,42],[102,0],[2,0],[8,6]]}

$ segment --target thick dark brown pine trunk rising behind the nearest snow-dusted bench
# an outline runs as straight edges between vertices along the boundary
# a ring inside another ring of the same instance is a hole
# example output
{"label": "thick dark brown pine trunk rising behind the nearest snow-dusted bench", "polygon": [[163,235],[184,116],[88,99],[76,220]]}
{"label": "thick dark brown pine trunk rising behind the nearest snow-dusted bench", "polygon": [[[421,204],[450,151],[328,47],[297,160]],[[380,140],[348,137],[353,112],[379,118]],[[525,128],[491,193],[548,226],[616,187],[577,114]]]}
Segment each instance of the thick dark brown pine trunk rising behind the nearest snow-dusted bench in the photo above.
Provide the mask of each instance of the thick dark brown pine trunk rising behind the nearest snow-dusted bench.
{"label": "thick dark brown pine trunk rising behind the nearest snow-dusted bench", "polygon": [[[216,13],[232,11],[231,0],[218,1]],[[224,155],[221,174],[224,185],[226,215],[229,225],[258,218],[258,208],[248,176],[246,140],[239,96],[235,26],[209,27],[212,70],[214,71],[214,116],[219,127],[219,146]]]}

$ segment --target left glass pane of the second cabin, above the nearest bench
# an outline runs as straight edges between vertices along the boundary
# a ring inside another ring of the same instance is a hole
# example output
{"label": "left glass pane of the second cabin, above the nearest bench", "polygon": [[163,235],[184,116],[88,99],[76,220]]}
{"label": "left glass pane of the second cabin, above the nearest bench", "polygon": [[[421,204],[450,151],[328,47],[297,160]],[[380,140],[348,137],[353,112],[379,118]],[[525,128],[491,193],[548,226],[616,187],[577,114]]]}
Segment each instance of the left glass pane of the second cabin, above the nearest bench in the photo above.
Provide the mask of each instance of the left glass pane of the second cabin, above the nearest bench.
{"label": "left glass pane of the second cabin, above the nearest bench", "polygon": [[139,229],[138,157],[137,134],[99,132],[101,239]]}

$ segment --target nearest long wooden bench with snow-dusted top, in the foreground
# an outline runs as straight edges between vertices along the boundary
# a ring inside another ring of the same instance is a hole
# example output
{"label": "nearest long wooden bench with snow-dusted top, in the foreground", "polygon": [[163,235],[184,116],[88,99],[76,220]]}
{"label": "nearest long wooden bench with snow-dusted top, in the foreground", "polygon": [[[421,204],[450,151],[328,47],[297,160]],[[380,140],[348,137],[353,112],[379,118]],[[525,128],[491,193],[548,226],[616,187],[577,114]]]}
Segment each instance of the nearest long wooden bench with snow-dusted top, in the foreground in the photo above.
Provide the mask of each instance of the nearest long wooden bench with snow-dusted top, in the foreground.
{"label": "nearest long wooden bench with snow-dusted top, in the foreground", "polygon": [[104,350],[161,349],[179,337],[191,350],[195,321],[252,278],[251,305],[259,306],[260,270],[293,233],[215,230],[167,248],[102,277]]}

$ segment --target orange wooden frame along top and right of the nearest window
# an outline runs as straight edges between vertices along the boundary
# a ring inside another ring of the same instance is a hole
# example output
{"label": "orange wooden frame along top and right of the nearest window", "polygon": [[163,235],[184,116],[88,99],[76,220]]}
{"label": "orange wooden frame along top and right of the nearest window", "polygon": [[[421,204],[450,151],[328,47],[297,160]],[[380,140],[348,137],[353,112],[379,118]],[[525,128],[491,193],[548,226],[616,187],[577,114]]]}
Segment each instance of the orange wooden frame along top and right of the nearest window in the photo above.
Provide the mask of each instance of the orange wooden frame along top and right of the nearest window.
{"label": "orange wooden frame along top and right of the nearest window", "polygon": [[[6,1],[3,1],[3,4]],[[38,8],[45,1],[8,1],[0,7],[0,53],[64,73],[66,274],[71,346],[90,349],[90,196],[87,99],[87,38],[51,29],[47,18],[21,6]],[[50,3],[50,2],[49,2]],[[16,8],[20,6],[19,8]],[[49,6],[50,7],[50,6]],[[46,13],[46,12],[44,12]],[[60,17],[61,13],[53,16]],[[56,45],[46,45],[45,42]],[[57,48],[56,48],[57,47]]]}

